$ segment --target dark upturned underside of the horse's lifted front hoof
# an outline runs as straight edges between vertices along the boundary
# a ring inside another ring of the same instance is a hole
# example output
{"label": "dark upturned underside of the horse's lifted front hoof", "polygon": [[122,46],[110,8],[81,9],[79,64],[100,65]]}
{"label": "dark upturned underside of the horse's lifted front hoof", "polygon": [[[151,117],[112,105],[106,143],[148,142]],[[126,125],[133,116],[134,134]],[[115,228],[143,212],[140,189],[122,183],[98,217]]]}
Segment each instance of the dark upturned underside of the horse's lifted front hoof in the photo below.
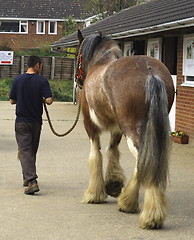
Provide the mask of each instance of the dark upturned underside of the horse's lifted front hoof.
{"label": "dark upturned underside of the horse's lifted front hoof", "polygon": [[112,197],[117,198],[121,194],[121,189],[123,188],[123,182],[119,181],[108,181],[106,183],[106,193]]}

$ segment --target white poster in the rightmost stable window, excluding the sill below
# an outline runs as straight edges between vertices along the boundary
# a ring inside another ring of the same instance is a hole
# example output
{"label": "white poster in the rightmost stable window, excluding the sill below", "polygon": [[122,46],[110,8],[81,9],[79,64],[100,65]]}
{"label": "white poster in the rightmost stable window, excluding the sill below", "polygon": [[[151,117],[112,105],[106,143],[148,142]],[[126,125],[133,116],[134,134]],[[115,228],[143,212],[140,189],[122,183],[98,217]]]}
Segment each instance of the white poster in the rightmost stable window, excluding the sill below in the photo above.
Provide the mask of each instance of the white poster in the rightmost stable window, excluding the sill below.
{"label": "white poster in the rightmost stable window, excluding the sill below", "polygon": [[183,75],[194,76],[194,35],[186,35],[184,37]]}

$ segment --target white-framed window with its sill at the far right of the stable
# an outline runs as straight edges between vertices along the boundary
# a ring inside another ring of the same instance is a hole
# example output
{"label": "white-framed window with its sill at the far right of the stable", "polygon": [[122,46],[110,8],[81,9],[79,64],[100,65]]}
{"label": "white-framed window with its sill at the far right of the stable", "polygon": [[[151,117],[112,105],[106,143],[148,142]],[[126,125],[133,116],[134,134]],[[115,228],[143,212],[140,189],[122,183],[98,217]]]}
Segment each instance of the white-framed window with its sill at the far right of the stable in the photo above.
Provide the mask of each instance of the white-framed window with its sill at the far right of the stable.
{"label": "white-framed window with its sill at the far right of the stable", "polygon": [[194,87],[194,34],[183,36],[183,76],[184,83],[181,86]]}

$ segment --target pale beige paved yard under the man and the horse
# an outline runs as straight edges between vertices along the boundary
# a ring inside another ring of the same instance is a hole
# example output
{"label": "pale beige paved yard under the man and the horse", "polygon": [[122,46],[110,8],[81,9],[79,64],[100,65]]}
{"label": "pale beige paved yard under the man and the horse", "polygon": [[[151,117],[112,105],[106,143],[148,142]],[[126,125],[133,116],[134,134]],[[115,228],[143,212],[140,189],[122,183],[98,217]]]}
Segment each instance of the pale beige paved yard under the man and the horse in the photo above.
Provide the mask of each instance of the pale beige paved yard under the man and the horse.
{"label": "pale beige paved yard under the man and the horse", "polygon": [[[81,204],[88,185],[89,141],[82,125],[64,138],[55,137],[44,121],[37,156],[40,193],[23,194],[21,168],[16,159],[14,106],[0,102],[0,239],[1,240],[191,240],[194,239],[194,146],[173,144],[167,197],[169,215],[162,230],[142,230],[139,214],[117,210],[116,199],[105,204]],[[67,130],[76,106],[49,106],[58,131]],[[44,117],[45,118],[45,117]],[[108,135],[102,139],[102,152]],[[135,161],[125,139],[121,164],[129,178]],[[106,160],[104,161],[104,167]],[[142,204],[143,191],[140,194]]]}

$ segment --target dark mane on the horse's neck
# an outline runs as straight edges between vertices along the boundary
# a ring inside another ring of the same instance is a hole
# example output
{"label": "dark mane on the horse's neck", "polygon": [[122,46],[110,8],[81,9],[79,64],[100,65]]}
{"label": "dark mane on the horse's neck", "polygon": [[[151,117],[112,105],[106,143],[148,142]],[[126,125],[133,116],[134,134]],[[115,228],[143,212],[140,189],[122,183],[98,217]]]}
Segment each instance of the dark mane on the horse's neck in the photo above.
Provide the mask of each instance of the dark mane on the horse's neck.
{"label": "dark mane on the horse's neck", "polygon": [[82,47],[84,61],[89,62],[93,57],[94,51],[107,41],[112,40],[109,37],[102,36],[101,33],[94,33],[87,37]]}

